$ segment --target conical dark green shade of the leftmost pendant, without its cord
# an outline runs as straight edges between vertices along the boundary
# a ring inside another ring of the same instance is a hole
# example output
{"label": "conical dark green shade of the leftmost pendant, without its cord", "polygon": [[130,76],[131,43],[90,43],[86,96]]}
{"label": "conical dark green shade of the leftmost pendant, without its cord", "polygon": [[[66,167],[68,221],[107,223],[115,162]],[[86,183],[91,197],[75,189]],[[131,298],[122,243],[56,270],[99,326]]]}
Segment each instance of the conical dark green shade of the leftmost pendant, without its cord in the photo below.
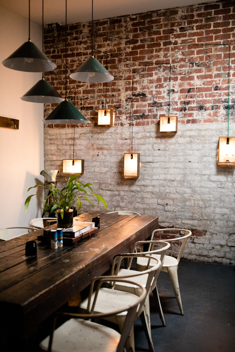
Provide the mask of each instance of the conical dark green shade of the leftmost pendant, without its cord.
{"label": "conical dark green shade of the leftmost pendant, without its cord", "polygon": [[12,70],[25,72],[47,72],[56,68],[56,65],[30,40],[3,60],[2,64]]}

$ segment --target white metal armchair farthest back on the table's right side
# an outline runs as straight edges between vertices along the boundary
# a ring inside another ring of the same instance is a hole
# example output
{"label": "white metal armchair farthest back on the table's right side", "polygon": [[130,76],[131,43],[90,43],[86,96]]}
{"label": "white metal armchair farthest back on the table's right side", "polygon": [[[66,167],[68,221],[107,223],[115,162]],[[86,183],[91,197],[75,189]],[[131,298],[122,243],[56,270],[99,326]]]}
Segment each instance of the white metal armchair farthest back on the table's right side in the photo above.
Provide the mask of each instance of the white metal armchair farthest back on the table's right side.
{"label": "white metal armchair farthest back on the table's right side", "polygon": [[[184,233],[185,233],[184,236],[180,235],[181,237],[175,237],[175,238],[166,239],[166,241],[170,242],[170,243],[173,242],[173,241],[181,241],[181,240],[183,240],[183,242],[181,244],[178,257],[174,258],[174,257],[171,257],[171,256],[165,256],[165,259],[164,259],[164,262],[163,262],[162,268],[161,268],[161,271],[168,272],[169,275],[170,275],[172,286],[173,286],[173,290],[174,290],[174,294],[175,294],[175,298],[177,300],[177,303],[178,303],[178,306],[179,306],[179,309],[180,309],[180,314],[184,315],[182,302],[181,302],[181,297],[180,297],[180,289],[179,289],[177,270],[178,270],[178,264],[179,264],[181,255],[182,255],[182,253],[184,251],[184,247],[186,245],[187,239],[188,239],[189,236],[192,235],[192,232],[190,230],[185,230],[184,228],[157,229],[157,230],[153,231],[153,233],[151,235],[151,240],[153,239],[154,234],[156,232],[160,232],[160,231],[184,231]],[[148,243],[148,241],[146,241],[146,243]],[[148,250],[150,251],[150,245],[149,245],[149,249]],[[160,257],[159,254],[150,254],[150,256],[155,257],[155,258],[159,258]],[[146,265],[147,264],[148,264],[148,260],[146,258],[144,258],[144,257],[137,258],[136,270],[138,270],[138,271],[146,270]],[[150,261],[150,266],[151,265],[154,265],[154,263],[152,264],[151,261]],[[154,292],[153,292],[153,294],[154,294]]]}

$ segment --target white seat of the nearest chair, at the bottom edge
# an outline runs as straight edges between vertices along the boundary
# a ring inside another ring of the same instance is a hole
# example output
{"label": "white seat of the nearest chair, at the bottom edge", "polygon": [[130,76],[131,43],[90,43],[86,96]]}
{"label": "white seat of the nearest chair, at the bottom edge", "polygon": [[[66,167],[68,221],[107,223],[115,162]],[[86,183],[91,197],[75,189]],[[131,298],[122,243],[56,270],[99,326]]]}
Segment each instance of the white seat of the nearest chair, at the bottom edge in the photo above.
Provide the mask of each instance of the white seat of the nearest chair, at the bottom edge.
{"label": "white seat of the nearest chair, at the bottom edge", "polygon": [[[54,332],[52,352],[115,352],[120,334],[103,325],[84,320],[70,319]],[[49,336],[40,347],[48,350]]]}

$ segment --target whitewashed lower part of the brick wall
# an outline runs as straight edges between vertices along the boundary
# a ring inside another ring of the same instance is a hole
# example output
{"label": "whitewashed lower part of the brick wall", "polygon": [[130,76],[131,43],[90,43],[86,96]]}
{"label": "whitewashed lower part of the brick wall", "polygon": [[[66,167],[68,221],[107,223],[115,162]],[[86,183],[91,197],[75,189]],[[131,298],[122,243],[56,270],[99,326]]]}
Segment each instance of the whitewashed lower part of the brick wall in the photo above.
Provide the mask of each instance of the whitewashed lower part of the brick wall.
{"label": "whitewashed lower part of the brick wall", "polygon": [[[178,133],[160,134],[159,125],[134,126],[133,152],[140,152],[137,180],[123,178],[123,153],[130,152],[131,128],[75,128],[74,158],[85,159],[81,182],[91,182],[107,202],[107,212],[133,210],[159,216],[164,227],[192,229],[183,257],[235,264],[234,168],[217,165],[218,137],[226,123],[179,124]],[[235,126],[230,124],[230,136]],[[45,169],[73,158],[73,125],[44,130]],[[94,208],[104,210],[103,205]],[[92,210],[85,203],[81,213]]]}

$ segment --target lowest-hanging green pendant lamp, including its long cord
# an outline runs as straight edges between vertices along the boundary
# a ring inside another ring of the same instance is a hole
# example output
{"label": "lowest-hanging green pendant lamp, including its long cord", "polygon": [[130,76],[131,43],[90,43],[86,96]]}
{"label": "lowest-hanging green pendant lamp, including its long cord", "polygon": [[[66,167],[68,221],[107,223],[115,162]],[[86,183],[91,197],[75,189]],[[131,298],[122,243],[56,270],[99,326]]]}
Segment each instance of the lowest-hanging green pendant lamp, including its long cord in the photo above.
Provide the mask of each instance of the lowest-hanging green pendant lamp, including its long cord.
{"label": "lowest-hanging green pendant lamp, including its long cord", "polygon": [[45,124],[87,124],[90,121],[87,120],[75,106],[67,99],[67,0],[65,0],[65,90],[66,98],[62,101],[43,122]]}

